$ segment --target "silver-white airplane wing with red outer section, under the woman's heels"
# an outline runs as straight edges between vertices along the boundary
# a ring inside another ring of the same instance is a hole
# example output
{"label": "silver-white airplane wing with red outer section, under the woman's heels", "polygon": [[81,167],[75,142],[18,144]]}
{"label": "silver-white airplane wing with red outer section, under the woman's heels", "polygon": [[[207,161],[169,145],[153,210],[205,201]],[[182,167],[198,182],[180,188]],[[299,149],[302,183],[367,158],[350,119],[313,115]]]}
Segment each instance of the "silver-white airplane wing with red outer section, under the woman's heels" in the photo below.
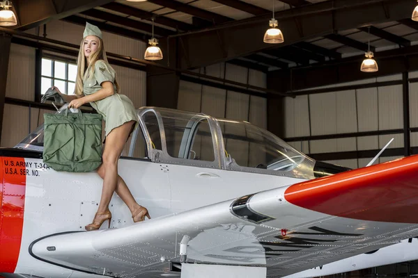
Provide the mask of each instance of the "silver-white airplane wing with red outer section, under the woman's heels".
{"label": "silver-white airplane wing with red outer section, under the woman's heels", "polygon": [[418,156],[410,156],[130,227],[51,235],[29,251],[110,277],[160,277],[182,261],[283,277],[418,236],[417,211]]}

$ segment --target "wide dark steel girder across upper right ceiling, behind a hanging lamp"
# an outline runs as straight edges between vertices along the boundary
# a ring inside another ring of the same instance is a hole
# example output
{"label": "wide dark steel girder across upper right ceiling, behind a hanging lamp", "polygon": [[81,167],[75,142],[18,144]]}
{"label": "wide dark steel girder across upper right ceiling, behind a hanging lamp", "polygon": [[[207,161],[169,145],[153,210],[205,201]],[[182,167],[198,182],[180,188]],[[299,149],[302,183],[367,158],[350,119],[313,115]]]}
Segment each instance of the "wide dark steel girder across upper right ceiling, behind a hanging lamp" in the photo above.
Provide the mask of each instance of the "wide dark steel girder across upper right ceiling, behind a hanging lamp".
{"label": "wide dark steel girder across upper right ceiling, behind a hanging lamp", "polygon": [[[382,5],[384,2],[385,5]],[[390,10],[389,17],[386,13],[387,8]],[[414,8],[415,3],[410,0],[334,0],[284,10],[276,13],[275,17],[284,33],[283,45],[286,45],[322,37],[334,31],[359,28],[371,22],[390,22],[408,18]],[[179,67],[203,67],[277,47],[263,42],[263,34],[268,28],[270,17],[271,15],[261,15],[173,35],[172,37],[182,36],[185,44],[184,49],[178,49]],[[216,44],[214,47],[213,42],[217,42],[219,37],[224,42],[226,56],[222,47]],[[186,54],[189,66],[185,60]]]}

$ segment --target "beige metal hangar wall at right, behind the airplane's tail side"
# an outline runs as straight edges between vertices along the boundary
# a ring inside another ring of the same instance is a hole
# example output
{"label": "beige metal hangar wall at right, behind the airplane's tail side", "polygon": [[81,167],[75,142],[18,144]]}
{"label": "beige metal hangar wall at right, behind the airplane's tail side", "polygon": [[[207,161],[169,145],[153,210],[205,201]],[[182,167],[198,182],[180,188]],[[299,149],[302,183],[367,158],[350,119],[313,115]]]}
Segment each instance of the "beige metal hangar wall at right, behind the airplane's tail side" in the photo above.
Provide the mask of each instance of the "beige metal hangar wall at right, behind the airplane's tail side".
{"label": "beige metal hangar wall at right, behind the airplane's tail side", "polygon": [[[412,75],[415,73],[412,73]],[[401,74],[368,79],[341,85],[358,85],[382,81],[400,81]],[[336,85],[329,86],[334,88]],[[410,84],[410,126],[418,126],[416,107],[418,84]],[[286,138],[302,136],[323,136],[363,131],[403,129],[402,85],[346,90],[338,92],[304,95],[285,99]],[[403,134],[335,138],[289,142],[305,154],[331,152],[352,152],[381,149],[391,138],[389,148],[403,147]],[[417,133],[411,133],[411,146],[418,146]],[[376,153],[377,154],[377,153]],[[390,161],[397,157],[381,157],[376,163]],[[371,158],[329,161],[347,167],[364,167]]]}

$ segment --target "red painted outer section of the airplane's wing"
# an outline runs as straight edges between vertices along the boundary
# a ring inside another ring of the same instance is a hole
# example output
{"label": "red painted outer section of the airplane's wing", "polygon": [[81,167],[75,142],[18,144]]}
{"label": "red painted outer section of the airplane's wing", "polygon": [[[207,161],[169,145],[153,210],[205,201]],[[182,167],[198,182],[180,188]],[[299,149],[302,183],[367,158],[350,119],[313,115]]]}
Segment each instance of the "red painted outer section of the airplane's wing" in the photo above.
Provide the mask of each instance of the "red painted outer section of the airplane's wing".
{"label": "red painted outer section of the airplane's wing", "polygon": [[418,156],[295,184],[285,197],[344,218],[418,223]]}

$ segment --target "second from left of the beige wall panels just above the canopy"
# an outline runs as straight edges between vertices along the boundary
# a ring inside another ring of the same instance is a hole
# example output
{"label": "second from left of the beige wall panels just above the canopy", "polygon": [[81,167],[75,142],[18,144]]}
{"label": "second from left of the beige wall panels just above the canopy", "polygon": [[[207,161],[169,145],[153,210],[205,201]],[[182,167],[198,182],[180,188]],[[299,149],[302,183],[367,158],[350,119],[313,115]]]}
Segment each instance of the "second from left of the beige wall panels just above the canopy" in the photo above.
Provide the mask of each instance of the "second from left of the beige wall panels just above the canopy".
{"label": "second from left of the beige wall panels just above the canopy", "polygon": [[202,113],[213,117],[225,117],[226,90],[203,86]]}

